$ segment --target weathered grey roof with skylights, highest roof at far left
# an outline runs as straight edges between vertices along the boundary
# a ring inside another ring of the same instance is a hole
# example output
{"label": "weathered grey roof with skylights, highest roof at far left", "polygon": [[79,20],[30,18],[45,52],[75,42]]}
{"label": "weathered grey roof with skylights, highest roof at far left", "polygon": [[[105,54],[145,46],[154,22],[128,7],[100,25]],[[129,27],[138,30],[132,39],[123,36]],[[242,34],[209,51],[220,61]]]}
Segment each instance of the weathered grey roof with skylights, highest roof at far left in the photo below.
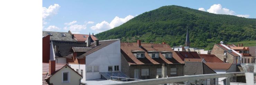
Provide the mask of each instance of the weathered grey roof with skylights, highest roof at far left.
{"label": "weathered grey roof with skylights, highest roof at far left", "polygon": [[[50,40],[76,41],[75,38],[72,38],[72,34],[68,32],[43,31],[43,36],[48,35],[47,33],[52,33],[52,36],[50,36]],[[61,36],[62,33],[65,34],[65,37]]]}

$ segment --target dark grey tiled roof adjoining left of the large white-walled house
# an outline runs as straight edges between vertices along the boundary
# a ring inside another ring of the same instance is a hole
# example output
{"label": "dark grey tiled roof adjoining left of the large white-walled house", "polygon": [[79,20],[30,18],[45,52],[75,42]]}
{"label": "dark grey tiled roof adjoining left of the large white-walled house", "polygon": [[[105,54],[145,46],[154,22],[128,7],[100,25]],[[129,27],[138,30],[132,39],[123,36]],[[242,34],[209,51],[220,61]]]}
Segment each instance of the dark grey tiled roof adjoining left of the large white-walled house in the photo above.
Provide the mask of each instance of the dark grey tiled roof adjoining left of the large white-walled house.
{"label": "dark grey tiled roof adjoining left of the large white-walled house", "polygon": [[52,40],[53,48],[58,46],[58,53],[55,53],[55,57],[68,57],[71,54],[72,47],[86,47],[85,42],[73,42],[73,41],[57,41]]}

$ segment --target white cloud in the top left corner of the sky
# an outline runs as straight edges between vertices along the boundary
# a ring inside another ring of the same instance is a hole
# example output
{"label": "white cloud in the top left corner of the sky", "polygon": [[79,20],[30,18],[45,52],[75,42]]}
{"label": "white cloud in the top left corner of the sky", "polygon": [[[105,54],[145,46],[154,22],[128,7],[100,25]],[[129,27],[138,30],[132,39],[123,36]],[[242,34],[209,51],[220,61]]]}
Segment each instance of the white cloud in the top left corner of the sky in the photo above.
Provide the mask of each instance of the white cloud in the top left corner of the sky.
{"label": "white cloud in the top left corner of the sky", "polygon": [[50,5],[48,9],[46,7],[43,7],[43,19],[47,19],[55,14],[58,13],[58,9],[61,6],[59,4]]}

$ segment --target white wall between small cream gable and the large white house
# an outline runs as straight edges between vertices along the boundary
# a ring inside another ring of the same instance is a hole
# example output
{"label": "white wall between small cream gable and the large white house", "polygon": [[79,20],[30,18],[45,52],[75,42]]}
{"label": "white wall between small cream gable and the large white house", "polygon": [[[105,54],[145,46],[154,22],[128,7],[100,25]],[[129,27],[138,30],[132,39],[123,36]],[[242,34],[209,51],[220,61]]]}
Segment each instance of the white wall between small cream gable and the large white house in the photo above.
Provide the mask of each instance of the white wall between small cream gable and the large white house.
{"label": "white wall between small cream gable and the large white house", "polygon": [[76,69],[79,70],[79,74],[81,74],[81,69],[83,70],[83,79],[81,80],[81,82],[85,82],[86,78],[85,78],[85,64],[68,64],[72,69],[74,69],[76,71]]}

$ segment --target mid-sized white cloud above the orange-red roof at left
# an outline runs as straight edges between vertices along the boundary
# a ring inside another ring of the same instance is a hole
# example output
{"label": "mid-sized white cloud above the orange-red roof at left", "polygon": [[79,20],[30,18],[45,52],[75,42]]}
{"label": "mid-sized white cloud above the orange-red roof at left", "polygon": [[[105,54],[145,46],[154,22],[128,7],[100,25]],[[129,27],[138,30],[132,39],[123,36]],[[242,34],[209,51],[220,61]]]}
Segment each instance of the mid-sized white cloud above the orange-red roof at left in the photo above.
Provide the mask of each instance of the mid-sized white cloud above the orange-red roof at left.
{"label": "mid-sized white cloud above the orange-red roof at left", "polygon": [[86,24],[82,24],[82,25],[78,25],[78,24],[75,24],[77,21],[72,21],[72,22],[69,22],[69,23],[64,23],[64,25],[66,25],[63,29],[65,30],[70,30],[70,31],[81,31],[81,29],[86,29]]}

